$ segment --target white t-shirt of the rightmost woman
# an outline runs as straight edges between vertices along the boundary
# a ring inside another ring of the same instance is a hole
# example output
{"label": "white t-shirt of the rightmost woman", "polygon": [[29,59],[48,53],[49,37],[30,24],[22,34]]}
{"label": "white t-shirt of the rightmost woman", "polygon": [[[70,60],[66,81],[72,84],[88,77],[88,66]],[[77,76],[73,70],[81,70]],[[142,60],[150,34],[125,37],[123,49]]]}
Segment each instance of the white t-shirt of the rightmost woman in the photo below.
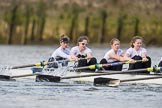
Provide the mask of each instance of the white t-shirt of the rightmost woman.
{"label": "white t-shirt of the rightmost woman", "polygon": [[136,51],[134,48],[131,47],[126,51],[126,54],[129,54],[131,58],[135,55],[142,57],[142,53],[147,53],[147,50],[145,48],[140,48],[138,51]]}

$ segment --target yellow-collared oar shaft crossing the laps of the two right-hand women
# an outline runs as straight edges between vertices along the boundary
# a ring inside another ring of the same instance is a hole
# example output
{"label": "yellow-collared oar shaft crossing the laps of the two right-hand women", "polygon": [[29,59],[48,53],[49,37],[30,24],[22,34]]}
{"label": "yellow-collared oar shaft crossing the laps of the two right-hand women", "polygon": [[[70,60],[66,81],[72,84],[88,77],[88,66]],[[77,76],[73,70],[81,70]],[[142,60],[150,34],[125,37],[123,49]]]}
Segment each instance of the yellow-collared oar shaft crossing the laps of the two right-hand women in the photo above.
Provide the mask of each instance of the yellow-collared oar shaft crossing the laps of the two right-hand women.
{"label": "yellow-collared oar shaft crossing the laps of the two right-hand women", "polygon": [[[135,60],[135,63],[138,62],[145,62],[142,60]],[[126,62],[115,62],[115,63],[106,63],[106,64],[95,64],[95,65],[90,65],[90,66],[84,66],[84,67],[77,67],[74,69],[100,69],[102,67],[108,67],[108,66],[117,66],[117,65],[122,65],[122,64],[130,64],[131,62],[126,61]]]}

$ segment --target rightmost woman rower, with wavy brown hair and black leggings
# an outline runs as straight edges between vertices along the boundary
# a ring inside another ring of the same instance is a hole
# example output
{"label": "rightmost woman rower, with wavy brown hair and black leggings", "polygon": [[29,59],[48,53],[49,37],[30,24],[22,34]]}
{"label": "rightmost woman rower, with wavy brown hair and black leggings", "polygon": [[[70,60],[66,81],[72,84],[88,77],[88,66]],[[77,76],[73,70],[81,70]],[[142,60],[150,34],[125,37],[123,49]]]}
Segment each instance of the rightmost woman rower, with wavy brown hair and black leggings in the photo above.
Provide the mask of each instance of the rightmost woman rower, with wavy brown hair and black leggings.
{"label": "rightmost woman rower, with wavy brown hair and black leggings", "polygon": [[125,56],[134,60],[142,60],[134,64],[129,64],[129,70],[151,67],[151,58],[147,56],[147,51],[142,47],[143,38],[135,36],[131,40],[131,47],[127,49]]}

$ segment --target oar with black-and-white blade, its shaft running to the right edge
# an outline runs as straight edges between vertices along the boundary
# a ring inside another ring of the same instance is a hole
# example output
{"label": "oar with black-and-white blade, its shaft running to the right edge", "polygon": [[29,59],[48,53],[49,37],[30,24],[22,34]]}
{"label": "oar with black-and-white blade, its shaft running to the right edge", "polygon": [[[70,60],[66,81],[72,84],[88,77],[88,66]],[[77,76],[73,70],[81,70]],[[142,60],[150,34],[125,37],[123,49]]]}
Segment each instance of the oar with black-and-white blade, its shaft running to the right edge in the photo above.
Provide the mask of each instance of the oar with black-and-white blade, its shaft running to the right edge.
{"label": "oar with black-and-white blade, its shaft running to the right edge", "polygon": [[159,79],[159,78],[162,78],[162,75],[153,76],[153,77],[144,77],[144,78],[125,79],[125,80],[99,77],[99,78],[94,79],[94,85],[95,86],[106,85],[106,86],[110,86],[110,87],[115,87],[115,86],[119,86],[120,83],[122,83],[122,82],[151,80],[151,79]]}

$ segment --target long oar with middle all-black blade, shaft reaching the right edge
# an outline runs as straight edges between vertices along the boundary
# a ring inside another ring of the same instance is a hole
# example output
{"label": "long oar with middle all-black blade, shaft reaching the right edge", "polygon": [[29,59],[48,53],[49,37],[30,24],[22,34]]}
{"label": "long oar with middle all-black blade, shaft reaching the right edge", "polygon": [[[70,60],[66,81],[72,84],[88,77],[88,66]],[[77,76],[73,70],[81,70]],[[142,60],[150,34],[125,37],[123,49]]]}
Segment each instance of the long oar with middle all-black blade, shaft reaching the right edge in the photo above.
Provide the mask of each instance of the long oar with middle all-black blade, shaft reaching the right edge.
{"label": "long oar with middle all-black blade, shaft reaching the right edge", "polygon": [[[128,73],[134,73],[134,72],[142,72],[142,71],[159,71],[162,70],[162,67],[150,67],[145,69],[136,69],[136,70],[127,70],[127,71],[110,71],[108,73],[103,73],[107,71],[101,71],[101,73],[91,73],[86,75],[76,75],[76,76],[67,76],[67,77],[59,77],[59,76],[51,76],[51,75],[37,75],[36,81],[50,81],[50,82],[59,82],[62,79],[72,79],[72,78],[83,78],[83,77],[92,77],[92,76],[102,76],[102,75],[112,75],[112,74],[128,74]],[[42,80],[41,80],[42,79]]]}

